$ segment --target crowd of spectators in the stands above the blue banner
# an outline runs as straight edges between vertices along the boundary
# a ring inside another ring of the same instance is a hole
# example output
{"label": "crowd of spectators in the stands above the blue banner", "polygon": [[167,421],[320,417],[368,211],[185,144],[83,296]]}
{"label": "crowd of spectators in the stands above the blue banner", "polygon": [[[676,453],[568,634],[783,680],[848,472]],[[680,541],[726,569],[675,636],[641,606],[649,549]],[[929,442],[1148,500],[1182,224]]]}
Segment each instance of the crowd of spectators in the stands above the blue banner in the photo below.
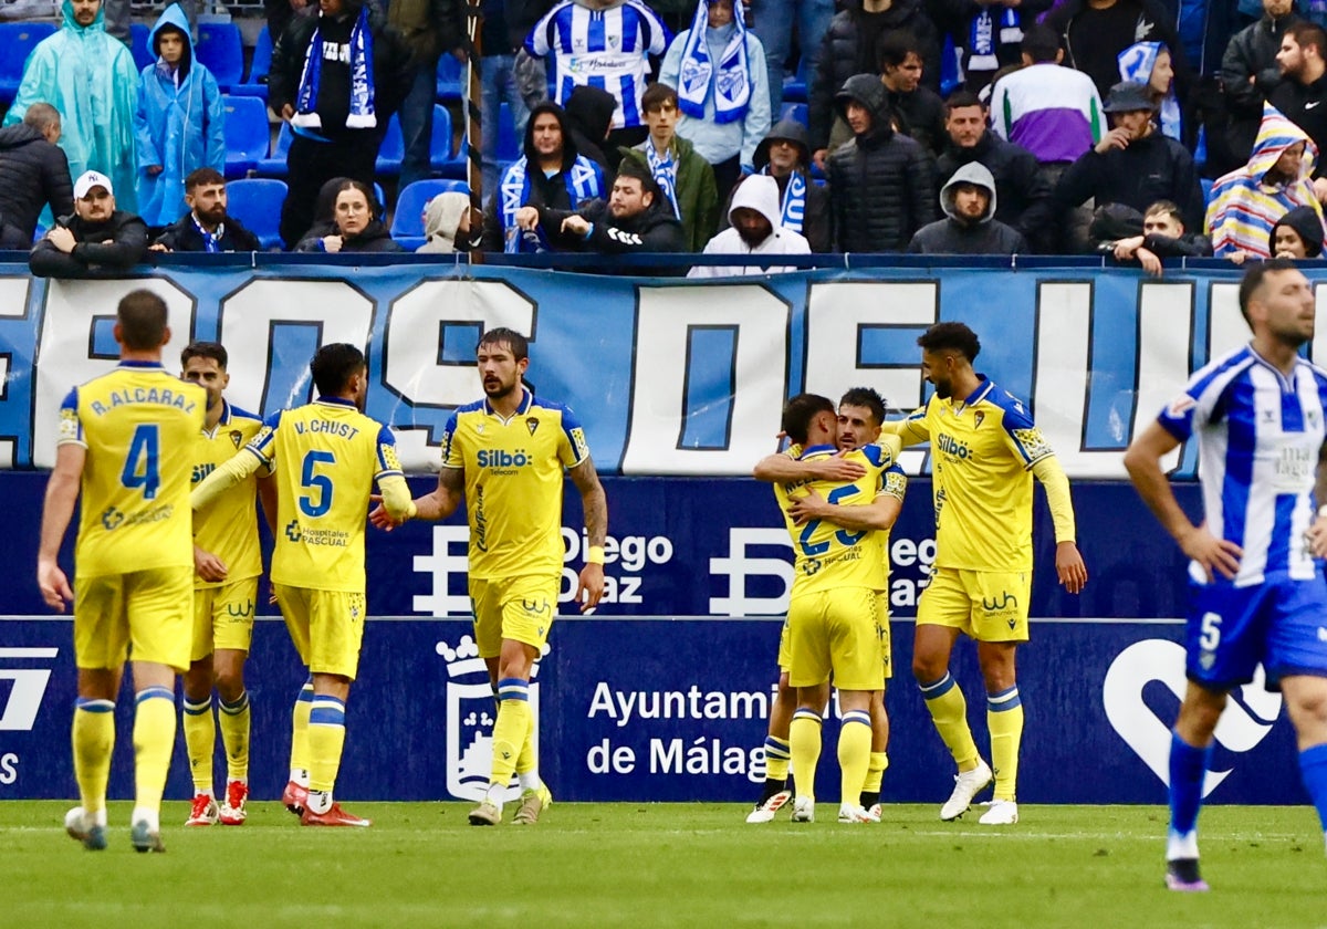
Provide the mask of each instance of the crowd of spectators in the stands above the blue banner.
{"label": "crowd of spectators in the stands above the blue banner", "polygon": [[[1153,273],[1213,251],[1320,256],[1327,33],[1294,0],[1190,5],[484,0],[476,44],[459,0],[275,0],[280,235],[403,251],[380,149],[397,114],[399,187],[430,177],[455,56],[479,65],[482,125],[506,105],[523,145],[499,162],[483,134],[483,206],[427,203],[429,253],[1100,253]],[[0,246],[40,236],[33,272],[56,276],[257,248],[227,214],[194,11],[166,8],[139,72],[102,0],[61,8],[0,129]],[[784,106],[794,70],[807,104]]]}

